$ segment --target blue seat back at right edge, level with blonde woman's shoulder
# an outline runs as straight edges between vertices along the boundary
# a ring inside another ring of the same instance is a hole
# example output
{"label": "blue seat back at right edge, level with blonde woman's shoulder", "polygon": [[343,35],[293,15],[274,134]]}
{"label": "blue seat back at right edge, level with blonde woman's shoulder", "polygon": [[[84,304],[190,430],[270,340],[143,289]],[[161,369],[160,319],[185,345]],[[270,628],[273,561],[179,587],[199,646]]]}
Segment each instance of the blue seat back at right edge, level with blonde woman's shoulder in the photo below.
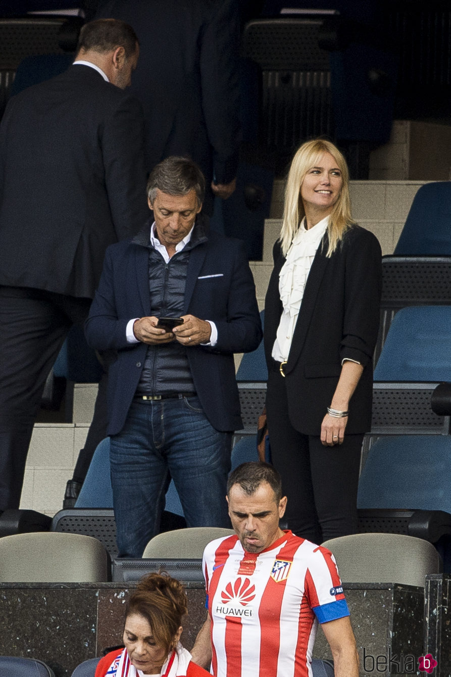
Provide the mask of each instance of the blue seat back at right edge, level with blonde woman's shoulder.
{"label": "blue seat back at right edge, level with blonde woman's shoulder", "polygon": [[394,254],[451,255],[451,181],[418,189]]}

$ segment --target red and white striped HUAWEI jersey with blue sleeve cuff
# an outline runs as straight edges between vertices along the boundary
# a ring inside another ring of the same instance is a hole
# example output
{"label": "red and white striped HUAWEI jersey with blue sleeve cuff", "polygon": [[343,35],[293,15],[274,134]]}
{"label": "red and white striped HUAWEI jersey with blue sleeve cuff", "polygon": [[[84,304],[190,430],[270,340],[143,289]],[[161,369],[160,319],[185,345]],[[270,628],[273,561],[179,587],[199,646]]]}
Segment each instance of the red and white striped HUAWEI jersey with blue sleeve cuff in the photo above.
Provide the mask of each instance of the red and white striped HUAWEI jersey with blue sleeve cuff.
{"label": "red and white striped HUAWEI jersey with blue sleeve cuff", "polygon": [[318,621],[349,615],[332,553],[291,531],[259,553],[226,536],[203,567],[215,677],[312,677]]}

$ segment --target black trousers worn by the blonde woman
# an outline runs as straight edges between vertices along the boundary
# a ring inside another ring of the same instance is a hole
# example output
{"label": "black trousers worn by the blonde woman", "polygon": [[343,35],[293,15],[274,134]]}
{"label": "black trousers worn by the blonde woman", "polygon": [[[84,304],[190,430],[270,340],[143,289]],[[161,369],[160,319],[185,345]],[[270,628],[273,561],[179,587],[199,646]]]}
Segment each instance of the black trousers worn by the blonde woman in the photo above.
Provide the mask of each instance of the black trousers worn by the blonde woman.
{"label": "black trousers worn by the blonde woman", "polygon": [[356,533],[364,436],[345,433],[343,444],[324,447],[320,431],[318,436],[303,435],[293,428],[285,380],[279,372],[270,371],[266,410],[272,463],[288,497],[284,517],[288,528],[314,543]]}

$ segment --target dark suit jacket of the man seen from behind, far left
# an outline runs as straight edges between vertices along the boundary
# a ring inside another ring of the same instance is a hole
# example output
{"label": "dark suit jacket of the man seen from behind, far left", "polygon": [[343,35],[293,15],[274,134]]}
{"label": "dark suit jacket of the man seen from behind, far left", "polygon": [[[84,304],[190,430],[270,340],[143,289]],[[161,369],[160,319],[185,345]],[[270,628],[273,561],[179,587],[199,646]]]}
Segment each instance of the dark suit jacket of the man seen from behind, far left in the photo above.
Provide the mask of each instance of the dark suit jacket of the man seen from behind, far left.
{"label": "dark suit jacket of the man seen from behind, far left", "polygon": [[70,66],[0,127],[0,284],[92,298],[105,249],[148,216],[137,100]]}

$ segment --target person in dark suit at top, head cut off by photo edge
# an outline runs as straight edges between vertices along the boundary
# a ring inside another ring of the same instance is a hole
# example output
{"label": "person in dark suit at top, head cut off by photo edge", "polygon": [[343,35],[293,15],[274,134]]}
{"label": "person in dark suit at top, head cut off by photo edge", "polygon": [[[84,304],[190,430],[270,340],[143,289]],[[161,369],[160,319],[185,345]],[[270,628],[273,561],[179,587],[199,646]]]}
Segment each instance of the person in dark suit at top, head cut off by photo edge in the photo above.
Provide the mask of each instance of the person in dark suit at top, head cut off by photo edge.
{"label": "person in dark suit at top, head cut off by photo edge", "polygon": [[239,12],[236,0],[109,0],[97,16],[127,21],[139,38],[131,88],[146,118],[146,168],[189,156],[213,194],[235,188],[238,122]]}

